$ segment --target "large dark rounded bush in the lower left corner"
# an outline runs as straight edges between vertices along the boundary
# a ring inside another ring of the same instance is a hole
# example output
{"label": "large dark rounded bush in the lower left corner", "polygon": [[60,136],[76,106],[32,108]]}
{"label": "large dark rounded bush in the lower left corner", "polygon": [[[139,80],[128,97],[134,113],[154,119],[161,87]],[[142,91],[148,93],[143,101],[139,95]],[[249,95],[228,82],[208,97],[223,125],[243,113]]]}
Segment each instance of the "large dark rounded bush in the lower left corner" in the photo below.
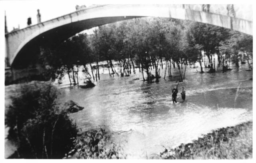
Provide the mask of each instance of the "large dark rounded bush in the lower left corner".
{"label": "large dark rounded bush in the lower left corner", "polygon": [[78,129],[56,99],[58,90],[49,83],[26,85],[12,98],[5,123],[8,138],[17,143],[18,158],[60,159],[72,147]]}

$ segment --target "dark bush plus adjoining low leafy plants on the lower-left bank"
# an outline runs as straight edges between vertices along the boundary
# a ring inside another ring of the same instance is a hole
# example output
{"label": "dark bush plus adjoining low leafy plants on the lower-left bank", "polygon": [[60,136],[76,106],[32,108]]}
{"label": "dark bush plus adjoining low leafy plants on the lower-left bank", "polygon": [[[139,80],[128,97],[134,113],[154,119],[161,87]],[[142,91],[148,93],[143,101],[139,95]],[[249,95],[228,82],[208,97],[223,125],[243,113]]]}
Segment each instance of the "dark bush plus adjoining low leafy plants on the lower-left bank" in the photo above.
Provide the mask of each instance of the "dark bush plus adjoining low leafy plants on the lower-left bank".
{"label": "dark bush plus adjoining low leafy plants on the lower-left bank", "polygon": [[24,85],[20,95],[11,97],[5,115],[8,139],[17,150],[9,158],[125,158],[122,148],[111,142],[105,129],[79,131],[69,113],[82,110],[74,101],[57,103],[58,89],[51,83]]}

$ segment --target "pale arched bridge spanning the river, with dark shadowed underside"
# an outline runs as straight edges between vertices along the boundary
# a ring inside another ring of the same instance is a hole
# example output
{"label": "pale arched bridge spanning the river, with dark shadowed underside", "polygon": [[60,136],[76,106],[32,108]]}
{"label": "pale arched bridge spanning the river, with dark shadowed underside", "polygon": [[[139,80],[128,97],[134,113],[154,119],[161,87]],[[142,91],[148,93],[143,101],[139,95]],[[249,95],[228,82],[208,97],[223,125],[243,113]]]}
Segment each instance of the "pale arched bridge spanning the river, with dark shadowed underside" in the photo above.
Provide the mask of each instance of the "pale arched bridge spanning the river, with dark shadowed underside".
{"label": "pale arched bridge spanning the river, with dark shadowed underside", "polygon": [[95,26],[140,17],[190,20],[220,26],[252,35],[252,21],[211,12],[178,8],[174,5],[120,4],[78,10],[58,18],[5,34],[5,55],[13,68],[36,61],[42,44],[55,44]]}

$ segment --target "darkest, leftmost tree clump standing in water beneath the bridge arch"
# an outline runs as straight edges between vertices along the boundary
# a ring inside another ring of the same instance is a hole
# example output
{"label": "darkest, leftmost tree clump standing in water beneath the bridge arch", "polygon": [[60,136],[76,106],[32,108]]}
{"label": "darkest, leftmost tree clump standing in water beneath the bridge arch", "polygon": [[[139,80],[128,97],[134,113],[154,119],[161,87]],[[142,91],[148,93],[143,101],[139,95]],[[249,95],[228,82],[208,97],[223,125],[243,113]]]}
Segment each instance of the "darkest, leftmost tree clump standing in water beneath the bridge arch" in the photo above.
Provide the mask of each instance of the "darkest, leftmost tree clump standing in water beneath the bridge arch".
{"label": "darkest, leftmost tree clump standing in water beneath the bridge arch", "polygon": [[83,66],[85,80],[90,80],[86,64],[92,62],[92,50],[86,34],[78,34],[51,48],[41,48],[40,63],[44,76],[54,81],[68,74],[70,85],[79,84],[78,73]]}

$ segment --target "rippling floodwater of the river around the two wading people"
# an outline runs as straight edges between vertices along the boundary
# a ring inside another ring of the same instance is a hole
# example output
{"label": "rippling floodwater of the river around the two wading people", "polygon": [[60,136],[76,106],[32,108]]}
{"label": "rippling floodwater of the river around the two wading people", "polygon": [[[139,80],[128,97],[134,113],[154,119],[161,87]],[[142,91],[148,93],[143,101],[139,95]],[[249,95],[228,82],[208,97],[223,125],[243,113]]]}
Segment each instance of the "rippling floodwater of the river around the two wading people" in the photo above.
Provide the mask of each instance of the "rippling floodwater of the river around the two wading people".
{"label": "rippling floodwater of the river around the two wading people", "polygon": [[191,142],[213,129],[252,120],[252,72],[246,71],[247,65],[226,73],[219,69],[200,74],[188,67],[185,81],[178,85],[177,104],[172,103],[171,91],[179,80],[178,68],[172,68],[176,77],[161,78],[159,83],[143,82],[138,71],[130,77],[110,78],[105,69],[93,88],[61,89],[60,101],[71,99],[85,107],[70,114],[83,131],[104,125],[128,159],[150,158],[165,147]]}

